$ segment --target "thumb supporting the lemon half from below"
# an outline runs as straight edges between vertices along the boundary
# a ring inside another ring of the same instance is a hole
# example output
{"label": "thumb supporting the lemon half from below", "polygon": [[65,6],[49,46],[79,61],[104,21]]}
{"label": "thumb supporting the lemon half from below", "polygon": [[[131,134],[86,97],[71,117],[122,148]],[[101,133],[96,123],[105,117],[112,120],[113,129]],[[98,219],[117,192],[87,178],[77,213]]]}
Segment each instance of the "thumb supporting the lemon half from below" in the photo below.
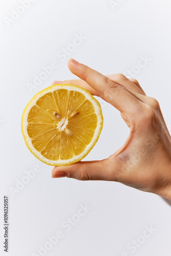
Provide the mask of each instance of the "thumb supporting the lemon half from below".
{"label": "thumb supporting the lemon half from below", "polygon": [[101,161],[80,161],[67,166],[55,166],[52,170],[52,178],[68,177],[77,180],[114,180],[111,167],[109,158]]}

